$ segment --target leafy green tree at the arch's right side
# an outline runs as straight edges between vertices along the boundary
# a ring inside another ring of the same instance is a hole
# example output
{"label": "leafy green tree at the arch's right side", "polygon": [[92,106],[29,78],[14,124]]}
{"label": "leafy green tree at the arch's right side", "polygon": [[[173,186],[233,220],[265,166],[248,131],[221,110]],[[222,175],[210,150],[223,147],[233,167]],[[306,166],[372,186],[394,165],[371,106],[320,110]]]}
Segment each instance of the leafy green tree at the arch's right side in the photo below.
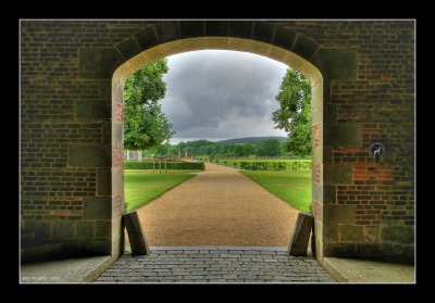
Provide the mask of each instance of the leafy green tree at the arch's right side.
{"label": "leafy green tree at the arch's right side", "polygon": [[287,151],[311,154],[311,85],[299,72],[288,68],[275,97],[279,110],[273,112],[275,128],[288,132]]}

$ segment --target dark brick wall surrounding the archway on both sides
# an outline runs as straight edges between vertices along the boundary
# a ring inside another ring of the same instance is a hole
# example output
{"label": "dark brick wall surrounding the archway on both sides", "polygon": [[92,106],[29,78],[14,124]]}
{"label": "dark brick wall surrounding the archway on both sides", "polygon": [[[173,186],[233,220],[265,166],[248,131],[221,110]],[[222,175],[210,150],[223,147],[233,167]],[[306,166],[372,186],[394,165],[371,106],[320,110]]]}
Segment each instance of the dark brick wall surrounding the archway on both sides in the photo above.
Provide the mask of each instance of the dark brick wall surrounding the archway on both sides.
{"label": "dark brick wall surrounding the archway on both sides", "polygon": [[[322,72],[323,100],[313,109],[320,257],[412,261],[410,21],[22,21],[22,229],[67,241],[77,252],[119,253],[123,149],[115,142],[123,116],[121,90],[112,91],[113,72],[154,46],[207,36],[270,43]],[[237,42],[225,46],[243,50]],[[190,43],[184,50],[196,48],[204,47]],[[265,55],[279,58],[272,51]],[[369,156],[374,141],[386,147],[380,163]]]}

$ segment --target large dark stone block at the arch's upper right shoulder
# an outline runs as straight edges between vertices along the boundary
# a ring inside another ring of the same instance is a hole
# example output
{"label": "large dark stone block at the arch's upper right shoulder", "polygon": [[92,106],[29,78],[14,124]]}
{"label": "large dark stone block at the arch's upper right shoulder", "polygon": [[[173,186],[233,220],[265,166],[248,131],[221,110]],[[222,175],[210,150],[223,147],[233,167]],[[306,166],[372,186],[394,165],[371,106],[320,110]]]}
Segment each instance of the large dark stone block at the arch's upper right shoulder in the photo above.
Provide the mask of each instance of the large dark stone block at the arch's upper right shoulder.
{"label": "large dark stone block at the arch's upper right shoulder", "polygon": [[355,49],[320,49],[312,62],[327,73],[328,79],[356,79],[357,54]]}

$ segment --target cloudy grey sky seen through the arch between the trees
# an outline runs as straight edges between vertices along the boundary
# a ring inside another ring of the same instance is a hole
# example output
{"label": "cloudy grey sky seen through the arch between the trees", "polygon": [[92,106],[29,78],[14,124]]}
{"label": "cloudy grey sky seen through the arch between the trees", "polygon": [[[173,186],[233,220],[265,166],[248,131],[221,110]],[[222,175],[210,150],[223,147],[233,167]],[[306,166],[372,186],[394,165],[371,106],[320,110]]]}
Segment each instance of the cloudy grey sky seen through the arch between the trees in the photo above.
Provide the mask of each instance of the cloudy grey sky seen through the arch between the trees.
{"label": "cloudy grey sky seen through the arch between the trees", "polygon": [[169,56],[163,112],[182,140],[286,136],[272,112],[287,66],[235,51],[195,51]]}

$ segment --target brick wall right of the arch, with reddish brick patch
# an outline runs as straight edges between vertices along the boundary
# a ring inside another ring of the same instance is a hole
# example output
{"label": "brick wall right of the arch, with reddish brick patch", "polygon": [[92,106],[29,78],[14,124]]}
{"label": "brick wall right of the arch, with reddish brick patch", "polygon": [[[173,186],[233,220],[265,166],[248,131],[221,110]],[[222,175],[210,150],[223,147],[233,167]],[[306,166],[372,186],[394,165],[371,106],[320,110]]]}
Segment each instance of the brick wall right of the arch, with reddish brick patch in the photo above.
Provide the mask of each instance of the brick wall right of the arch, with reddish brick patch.
{"label": "brick wall right of the arch, with reddish brick patch", "polygon": [[[351,169],[351,178],[341,173],[340,180],[326,186],[334,194],[331,209],[328,203],[324,207],[324,255],[412,262],[413,22],[296,22],[291,28],[325,48],[358,51],[357,77],[331,80],[331,98],[324,99],[325,124],[346,125],[328,127],[324,163]],[[378,163],[369,155],[375,141],[386,147]],[[335,210],[349,215],[341,218]]]}

